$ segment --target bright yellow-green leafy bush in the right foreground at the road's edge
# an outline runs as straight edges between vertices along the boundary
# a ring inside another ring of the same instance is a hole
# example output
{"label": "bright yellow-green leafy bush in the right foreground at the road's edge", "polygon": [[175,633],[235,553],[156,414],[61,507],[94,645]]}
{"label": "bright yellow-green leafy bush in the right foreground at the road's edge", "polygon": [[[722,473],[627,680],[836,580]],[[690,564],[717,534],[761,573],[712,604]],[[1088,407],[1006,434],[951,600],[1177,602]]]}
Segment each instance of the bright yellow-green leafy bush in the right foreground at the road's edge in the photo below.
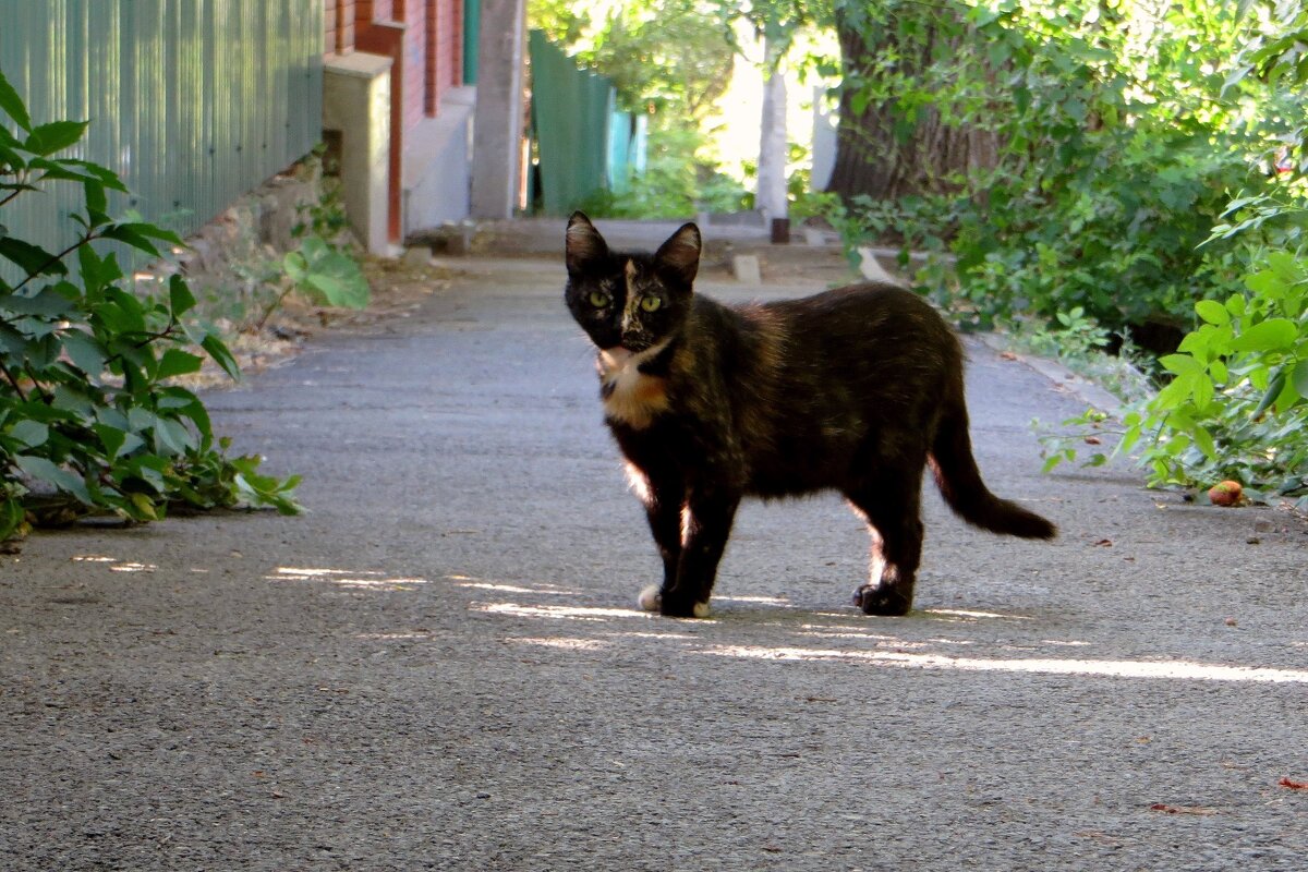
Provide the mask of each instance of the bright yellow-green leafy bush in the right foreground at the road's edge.
{"label": "bright yellow-green leafy bush in the right foreground at the road's edge", "polygon": [[[1240,52],[1245,63],[1226,80],[1236,88],[1261,72],[1271,81],[1308,81],[1303,34],[1308,10],[1278,9],[1279,31],[1258,35]],[[1298,118],[1303,118],[1300,112]],[[1303,131],[1288,140],[1303,150]],[[1159,360],[1168,378],[1147,400],[1127,407],[1117,451],[1139,452],[1152,485],[1207,486],[1233,478],[1253,499],[1291,497],[1308,509],[1308,258],[1303,225],[1308,193],[1298,165],[1281,146],[1269,161],[1271,193],[1228,204],[1209,242],[1240,241],[1249,252],[1243,288],[1194,303],[1196,327],[1175,354]],[[1271,163],[1279,166],[1271,166]],[[1288,163],[1288,165],[1287,165]],[[1093,413],[1065,422],[1103,429]],[[1049,464],[1075,460],[1067,437],[1046,437]],[[1091,461],[1103,459],[1103,452]]]}

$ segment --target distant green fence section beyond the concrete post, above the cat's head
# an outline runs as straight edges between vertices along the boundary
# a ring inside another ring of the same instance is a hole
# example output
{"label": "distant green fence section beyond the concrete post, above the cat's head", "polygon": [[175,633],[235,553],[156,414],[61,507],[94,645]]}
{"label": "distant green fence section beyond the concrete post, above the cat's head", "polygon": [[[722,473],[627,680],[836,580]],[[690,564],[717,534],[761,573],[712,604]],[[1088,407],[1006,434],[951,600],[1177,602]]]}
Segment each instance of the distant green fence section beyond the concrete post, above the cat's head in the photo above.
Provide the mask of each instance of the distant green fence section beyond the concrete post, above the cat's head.
{"label": "distant green fence section beyond the concrete post, above the cat's head", "polygon": [[531,31],[528,50],[542,210],[566,214],[603,188],[625,191],[632,167],[644,166],[644,126],[615,109],[608,78],[578,69],[544,33]]}

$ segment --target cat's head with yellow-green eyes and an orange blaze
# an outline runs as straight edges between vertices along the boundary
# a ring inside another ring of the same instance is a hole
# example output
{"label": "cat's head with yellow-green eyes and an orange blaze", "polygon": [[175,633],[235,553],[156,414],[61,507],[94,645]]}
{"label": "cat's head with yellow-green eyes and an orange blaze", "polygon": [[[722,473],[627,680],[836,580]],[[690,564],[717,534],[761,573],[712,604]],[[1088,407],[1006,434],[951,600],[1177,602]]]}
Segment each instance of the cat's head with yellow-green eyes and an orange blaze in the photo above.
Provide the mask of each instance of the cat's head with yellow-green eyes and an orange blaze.
{"label": "cat's head with yellow-green eyes and an orange blaze", "polygon": [[623,254],[581,212],[568,220],[565,298],[573,318],[600,349],[644,352],[680,329],[700,268],[700,229],[668,237],[658,251]]}

